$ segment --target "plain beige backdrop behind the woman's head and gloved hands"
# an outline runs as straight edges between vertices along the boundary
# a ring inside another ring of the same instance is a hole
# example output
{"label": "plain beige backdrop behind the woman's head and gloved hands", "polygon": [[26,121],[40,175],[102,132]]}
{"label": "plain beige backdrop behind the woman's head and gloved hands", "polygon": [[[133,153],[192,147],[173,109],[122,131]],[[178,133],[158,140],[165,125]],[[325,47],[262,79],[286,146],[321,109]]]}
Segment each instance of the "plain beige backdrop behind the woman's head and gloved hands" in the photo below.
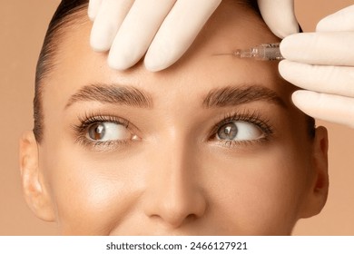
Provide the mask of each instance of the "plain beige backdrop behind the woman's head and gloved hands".
{"label": "plain beige backdrop behind the woman's head and gloved hands", "polygon": [[[46,25],[59,2],[0,0],[0,235],[56,233],[53,223],[36,219],[25,204],[18,138],[32,129],[34,67]],[[320,18],[354,5],[354,1],[295,0],[295,4],[300,24],[310,32]],[[319,216],[301,220],[294,234],[354,235],[354,130],[319,124],[329,129],[329,200]]]}

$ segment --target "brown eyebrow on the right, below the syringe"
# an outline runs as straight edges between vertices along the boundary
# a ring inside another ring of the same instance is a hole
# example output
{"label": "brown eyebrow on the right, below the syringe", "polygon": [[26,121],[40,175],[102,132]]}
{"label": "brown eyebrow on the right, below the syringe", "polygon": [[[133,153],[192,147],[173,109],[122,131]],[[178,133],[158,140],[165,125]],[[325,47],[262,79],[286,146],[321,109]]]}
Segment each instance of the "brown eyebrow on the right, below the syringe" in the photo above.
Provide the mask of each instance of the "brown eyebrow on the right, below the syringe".
{"label": "brown eyebrow on the right, below the syringe", "polygon": [[274,91],[261,85],[227,86],[211,90],[202,102],[205,108],[237,106],[243,103],[265,101],[287,108],[286,103]]}

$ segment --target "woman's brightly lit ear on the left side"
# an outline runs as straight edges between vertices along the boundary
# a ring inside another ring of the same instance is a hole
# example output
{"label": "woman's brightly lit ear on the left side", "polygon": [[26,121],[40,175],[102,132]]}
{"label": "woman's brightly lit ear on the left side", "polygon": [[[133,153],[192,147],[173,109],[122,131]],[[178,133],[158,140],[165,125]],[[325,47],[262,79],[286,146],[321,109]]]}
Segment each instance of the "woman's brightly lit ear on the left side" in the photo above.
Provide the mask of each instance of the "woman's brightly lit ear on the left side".
{"label": "woman's brightly lit ear on the left side", "polygon": [[20,169],[25,200],[34,214],[47,221],[54,221],[54,208],[44,186],[39,169],[38,144],[34,132],[25,132],[20,140]]}

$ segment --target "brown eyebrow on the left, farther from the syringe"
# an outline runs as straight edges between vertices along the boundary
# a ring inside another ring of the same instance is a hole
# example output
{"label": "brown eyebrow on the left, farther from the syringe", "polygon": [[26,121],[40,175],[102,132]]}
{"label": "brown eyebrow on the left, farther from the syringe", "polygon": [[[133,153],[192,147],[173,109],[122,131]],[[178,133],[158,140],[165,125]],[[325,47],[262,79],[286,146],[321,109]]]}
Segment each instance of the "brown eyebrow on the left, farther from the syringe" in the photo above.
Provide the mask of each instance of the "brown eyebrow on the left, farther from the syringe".
{"label": "brown eyebrow on the left, farther from the syringe", "polygon": [[152,97],[132,86],[116,84],[90,84],[74,93],[65,109],[77,102],[98,101],[100,103],[118,103],[139,108],[152,108]]}

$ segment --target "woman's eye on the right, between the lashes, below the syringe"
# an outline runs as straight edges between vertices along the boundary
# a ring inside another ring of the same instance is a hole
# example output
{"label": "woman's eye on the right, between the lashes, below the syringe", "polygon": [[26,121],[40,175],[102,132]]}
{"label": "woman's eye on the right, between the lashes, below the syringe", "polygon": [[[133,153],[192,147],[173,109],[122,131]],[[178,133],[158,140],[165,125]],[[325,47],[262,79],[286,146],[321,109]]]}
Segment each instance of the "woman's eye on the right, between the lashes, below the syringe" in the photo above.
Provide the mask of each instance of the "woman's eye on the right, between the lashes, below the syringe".
{"label": "woman's eye on the right, between the lashes, below the syringe", "polygon": [[216,138],[221,141],[253,141],[264,137],[261,128],[251,122],[232,121],[221,125]]}

